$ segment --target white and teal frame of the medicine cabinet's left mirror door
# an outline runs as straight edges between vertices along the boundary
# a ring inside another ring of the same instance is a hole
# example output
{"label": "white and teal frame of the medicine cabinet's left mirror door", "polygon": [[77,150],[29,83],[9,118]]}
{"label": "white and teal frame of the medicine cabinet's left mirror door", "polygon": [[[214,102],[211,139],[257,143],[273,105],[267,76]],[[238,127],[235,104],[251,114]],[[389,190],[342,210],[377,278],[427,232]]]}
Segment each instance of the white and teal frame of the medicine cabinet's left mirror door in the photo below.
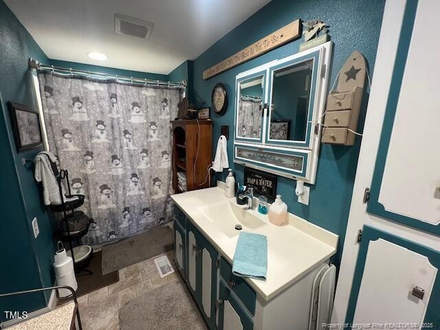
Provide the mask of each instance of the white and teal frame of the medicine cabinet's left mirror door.
{"label": "white and teal frame of the medicine cabinet's left mirror door", "polygon": [[[260,137],[242,137],[239,136],[239,107],[240,107],[240,85],[246,82],[249,82],[250,80],[254,80],[254,78],[262,77],[263,81],[263,95],[261,97],[261,104],[263,107],[263,115],[261,116],[261,135]],[[264,104],[266,98],[266,84],[267,84],[267,69],[257,71],[254,73],[250,73],[248,76],[243,76],[241,78],[236,79],[235,83],[235,90],[236,90],[236,100],[235,100],[235,114],[234,114],[234,138],[236,141],[243,141],[243,142],[250,142],[250,143],[261,143],[263,142],[263,135],[264,135],[264,118],[265,118],[265,109]]]}

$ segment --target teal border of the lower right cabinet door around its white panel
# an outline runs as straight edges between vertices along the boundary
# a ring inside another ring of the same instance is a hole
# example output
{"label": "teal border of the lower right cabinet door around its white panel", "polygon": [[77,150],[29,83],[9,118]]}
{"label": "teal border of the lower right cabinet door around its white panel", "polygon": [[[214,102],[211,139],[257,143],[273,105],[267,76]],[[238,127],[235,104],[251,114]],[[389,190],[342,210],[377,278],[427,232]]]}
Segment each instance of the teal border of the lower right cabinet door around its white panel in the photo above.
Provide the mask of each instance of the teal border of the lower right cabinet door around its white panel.
{"label": "teal border of the lower right cabinet door around its white panel", "polygon": [[[362,241],[360,243],[360,250],[358,254],[358,261],[356,262],[355,274],[353,276],[353,285],[351,287],[351,295],[349,299],[349,308],[345,319],[346,324],[353,324],[353,317],[355,315],[356,303],[358,303],[358,295],[360,285],[362,283],[362,276],[364,275],[364,267],[366,261],[366,254],[369,250],[371,241],[377,241],[377,239],[384,239],[388,242],[394,243],[401,247],[404,247],[412,252],[421,254],[428,258],[431,265],[440,270],[440,252],[428,248],[423,245],[419,245],[407,239],[402,239],[383,230],[375,229],[369,225],[364,225],[362,232]],[[430,300],[427,304],[426,314],[423,318],[423,323],[432,323],[436,325],[440,318],[440,310],[437,308],[440,306],[440,272],[437,272],[434,281],[434,287],[430,293]]]}

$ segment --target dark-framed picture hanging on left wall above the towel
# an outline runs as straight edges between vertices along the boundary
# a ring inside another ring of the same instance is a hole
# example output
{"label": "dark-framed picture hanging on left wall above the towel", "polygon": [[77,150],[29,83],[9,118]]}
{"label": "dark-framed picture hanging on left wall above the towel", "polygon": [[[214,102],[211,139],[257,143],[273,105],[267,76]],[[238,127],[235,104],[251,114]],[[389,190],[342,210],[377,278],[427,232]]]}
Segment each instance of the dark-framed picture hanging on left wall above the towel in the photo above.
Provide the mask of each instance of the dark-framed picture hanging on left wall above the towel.
{"label": "dark-framed picture hanging on left wall above the towel", "polygon": [[14,102],[9,102],[9,106],[17,152],[41,146],[43,137],[38,111]]}

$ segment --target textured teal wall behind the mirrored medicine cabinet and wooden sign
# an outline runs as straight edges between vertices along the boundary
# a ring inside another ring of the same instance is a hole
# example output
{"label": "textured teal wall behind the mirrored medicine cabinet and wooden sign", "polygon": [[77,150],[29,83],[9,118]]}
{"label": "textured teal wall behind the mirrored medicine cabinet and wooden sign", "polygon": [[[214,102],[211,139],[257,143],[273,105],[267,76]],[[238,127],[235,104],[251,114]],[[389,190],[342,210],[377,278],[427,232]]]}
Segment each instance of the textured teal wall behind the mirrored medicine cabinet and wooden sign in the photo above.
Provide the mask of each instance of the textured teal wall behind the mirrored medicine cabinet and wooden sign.
{"label": "textured teal wall behind the mirrored medicine cabinet and wooden sign", "polygon": [[[216,83],[225,84],[230,96],[225,115],[222,117],[212,115],[214,120],[212,147],[214,150],[220,135],[220,126],[229,125],[232,131],[234,125],[236,74],[276,58],[296,54],[303,40],[298,39],[288,43],[209,80],[203,80],[203,70],[235,52],[239,52],[294,19],[300,18],[303,21],[322,19],[330,25],[329,34],[334,43],[331,83],[333,83],[344,61],[354,50],[359,50],[364,54],[372,75],[383,10],[384,0],[273,0],[196,58],[194,61],[194,93],[197,96],[197,101],[204,100],[210,104],[211,91]],[[368,89],[365,90],[362,101],[358,126],[358,131],[361,132],[364,126],[367,93]],[[289,212],[340,235],[338,253],[333,258],[336,265],[340,264],[342,254],[342,243],[349,215],[360,141],[361,139],[357,138],[354,146],[321,145],[316,184],[311,186],[309,206],[298,203],[294,192],[295,181],[283,177],[278,179],[278,193],[283,195]],[[228,141],[228,153],[232,159],[232,138]],[[235,165],[232,161],[230,161],[230,166],[234,168],[237,180],[243,181],[243,166]],[[225,179],[225,173],[223,173],[223,177],[219,178]]]}

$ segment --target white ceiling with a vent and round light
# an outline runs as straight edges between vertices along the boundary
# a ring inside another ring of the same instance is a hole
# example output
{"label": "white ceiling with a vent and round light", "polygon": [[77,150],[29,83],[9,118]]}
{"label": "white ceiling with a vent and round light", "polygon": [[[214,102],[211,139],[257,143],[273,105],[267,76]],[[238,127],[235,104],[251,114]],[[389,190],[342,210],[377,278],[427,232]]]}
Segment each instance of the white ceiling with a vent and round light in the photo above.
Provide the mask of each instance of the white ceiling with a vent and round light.
{"label": "white ceiling with a vent and round light", "polygon": [[[270,0],[5,0],[49,58],[168,74]],[[114,14],[154,23],[150,39],[114,33]],[[86,52],[101,52],[106,61]]]}

